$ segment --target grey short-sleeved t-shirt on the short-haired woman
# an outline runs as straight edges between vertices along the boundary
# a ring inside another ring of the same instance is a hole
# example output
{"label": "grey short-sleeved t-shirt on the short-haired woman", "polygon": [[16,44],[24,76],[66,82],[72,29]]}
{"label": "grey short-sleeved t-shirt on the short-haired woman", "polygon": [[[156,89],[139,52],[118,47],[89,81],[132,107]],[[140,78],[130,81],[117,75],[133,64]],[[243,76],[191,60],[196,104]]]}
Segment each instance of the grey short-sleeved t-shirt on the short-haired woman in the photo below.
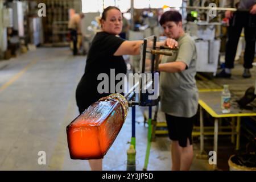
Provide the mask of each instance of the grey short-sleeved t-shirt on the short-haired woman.
{"label": "grey short-sleeved t-shirt on the short-haired woman", "polygon": [[178,73],[160,73],[161,109],[176,117],[190,118],[197,112],[196,46],[191,36],[185,34],[179,40],[179,50],[172,56],[163,56],[162,63],[183,61],[187,69]]}

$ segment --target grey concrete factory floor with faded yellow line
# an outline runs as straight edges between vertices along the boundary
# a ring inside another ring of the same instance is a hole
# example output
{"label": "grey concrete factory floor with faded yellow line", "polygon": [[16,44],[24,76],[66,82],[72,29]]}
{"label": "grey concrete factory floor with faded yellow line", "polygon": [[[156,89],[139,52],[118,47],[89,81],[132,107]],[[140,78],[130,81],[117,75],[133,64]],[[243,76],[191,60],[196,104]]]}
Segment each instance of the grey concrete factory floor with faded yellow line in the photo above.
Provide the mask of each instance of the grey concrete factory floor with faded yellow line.
{"label": "grey concrete factory floor with faded yellow line", "polygon": [[[85,59],[85,56],[73,57],[68,48],[38,48],[0,61],[0,170],[90,169],[88,162],[70,159],[65,130],[79,114],[75,89],[84,73]],[[199,82],[199,87],[202,85],[205,85],[204,81]],[[241,89],[244,92],[246,88]],[[143,119],[137,108],[137,170],[142,170],[146,154],[147,125],[144,126]],[[130,138],[131,109],[104,157],[104,170],[126,170]],[[148,170],[171,169],[170,143],[166,135],[156,137],[151,144]],[[208,159],[196,158],[199,139],[194,143],[191,170],[212,170]],[[208,143],[212,148],[212,140]],[[234,152],[233,145],[229,145]],[[46,152],[46,165],[38,164],[39,151]],[[227,165],[228,161],[225,163]]]}

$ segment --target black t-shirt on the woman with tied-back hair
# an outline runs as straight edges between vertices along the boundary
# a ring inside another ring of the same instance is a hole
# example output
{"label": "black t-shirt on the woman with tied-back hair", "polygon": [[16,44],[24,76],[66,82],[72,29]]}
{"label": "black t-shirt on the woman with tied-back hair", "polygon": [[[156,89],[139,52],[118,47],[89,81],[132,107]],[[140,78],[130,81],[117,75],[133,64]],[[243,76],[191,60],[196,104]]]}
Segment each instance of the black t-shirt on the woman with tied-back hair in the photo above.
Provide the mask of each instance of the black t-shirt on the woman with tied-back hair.
{"label": "black t-shirt on the woman with tied-back hair", "polygon": [[106,73],[109,76],[109,82],[110,69],[114,69],[115,75],[126,74],[127,69],[123,57],[114,56],[115,51],[124,41],[108,32],[98,32],[94,36],[86,60],[85,73],[76,90],[76,101],[80,112],[99,98],[109,95],[98,93],[97,86],[101,80],[97,80],[97,77],[100,73]]}

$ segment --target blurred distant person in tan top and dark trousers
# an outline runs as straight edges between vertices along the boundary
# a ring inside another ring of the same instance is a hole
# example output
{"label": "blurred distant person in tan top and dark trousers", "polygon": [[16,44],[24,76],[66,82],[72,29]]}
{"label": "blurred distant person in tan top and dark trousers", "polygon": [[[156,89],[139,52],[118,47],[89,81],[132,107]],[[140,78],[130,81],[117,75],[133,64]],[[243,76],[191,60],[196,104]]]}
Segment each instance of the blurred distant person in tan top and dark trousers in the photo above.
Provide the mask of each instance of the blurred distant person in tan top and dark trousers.
{"label": "blurred distant person in tan top and dark trousers", "polygon": [[71,39],[73,40],[73,55],[77,55],[77,35],[82,36],[81,31],[81,19],[84,18],[84,14],[74,14],[68,22],[68,28],[71,34]]}

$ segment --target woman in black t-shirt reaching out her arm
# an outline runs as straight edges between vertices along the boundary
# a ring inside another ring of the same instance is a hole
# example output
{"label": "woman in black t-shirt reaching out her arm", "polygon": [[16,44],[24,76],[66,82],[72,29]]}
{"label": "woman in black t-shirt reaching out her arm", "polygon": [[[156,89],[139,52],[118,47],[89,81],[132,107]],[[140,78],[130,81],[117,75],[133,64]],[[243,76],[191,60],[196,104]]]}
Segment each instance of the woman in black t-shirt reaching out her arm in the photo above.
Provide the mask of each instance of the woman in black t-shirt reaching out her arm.
{"label": "woman in black t-shirt reaching out her arm", "polygon": [[[109,6],[103,11],[101,28],[102,31],[98,32],[92,41],[85,73],[76,89],[76,102],[80,113],[93,102],[110,94],[110,92],[98,92],[98,84],[101,82],[97,80],[98,75],[106,73],[110,78],[110,69],[114,69],[115,75],[126,73],[126,64],[122,55],[139,55],[143,43],[143,40],[127,41],[117,36],[122,31],[122,13],[117,7]],[[165,42],[158,43],[157,46],[172,47],[175,43],[174,40],[167,39]],[[89,160],[89,164],[92,170],[102,169],[102,159]]]}

